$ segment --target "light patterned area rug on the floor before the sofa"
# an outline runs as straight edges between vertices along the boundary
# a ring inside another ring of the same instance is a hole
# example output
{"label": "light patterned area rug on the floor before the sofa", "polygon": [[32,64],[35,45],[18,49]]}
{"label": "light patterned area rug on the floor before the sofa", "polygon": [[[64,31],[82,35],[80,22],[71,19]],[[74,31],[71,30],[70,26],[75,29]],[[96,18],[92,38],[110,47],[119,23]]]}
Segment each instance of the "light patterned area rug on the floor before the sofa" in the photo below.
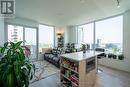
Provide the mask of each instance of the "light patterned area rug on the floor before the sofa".
{"label": "light patterned area rug on the floor before the sofa", "polygon": [[53,74],[59,73],[60,69],[52,65],[51,63],[43,60],[43,61],[35,61],[33,64],[36,67],[35,75],[30,83],[34,83],[46,77],[49,77]]}

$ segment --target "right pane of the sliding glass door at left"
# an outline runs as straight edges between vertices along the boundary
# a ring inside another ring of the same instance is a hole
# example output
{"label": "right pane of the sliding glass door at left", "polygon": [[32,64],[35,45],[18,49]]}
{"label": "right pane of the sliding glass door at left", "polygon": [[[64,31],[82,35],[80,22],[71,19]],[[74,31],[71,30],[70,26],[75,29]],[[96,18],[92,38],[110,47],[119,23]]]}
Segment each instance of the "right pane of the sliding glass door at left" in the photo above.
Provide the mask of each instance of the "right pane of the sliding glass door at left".
{"label": "right pane of the sliding glass door at left", "polygon": [[37,43],[36,43],[36,28],[25,27],[25,46],[30,48],[30,59],[36,59],[37,55]]}

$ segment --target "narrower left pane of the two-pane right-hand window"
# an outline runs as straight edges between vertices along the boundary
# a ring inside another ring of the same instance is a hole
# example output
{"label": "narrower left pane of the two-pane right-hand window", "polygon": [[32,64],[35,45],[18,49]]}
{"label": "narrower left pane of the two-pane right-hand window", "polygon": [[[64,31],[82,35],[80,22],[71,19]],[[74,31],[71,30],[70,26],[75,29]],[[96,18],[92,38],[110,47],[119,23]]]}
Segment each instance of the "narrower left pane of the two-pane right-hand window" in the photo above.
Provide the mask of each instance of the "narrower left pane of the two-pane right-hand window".
{"label": "narrower left pane of the two-pane right-hand window", "polygon": [[90,45],[90,49],[94,47],[94,24],[85,24],[78,27],[78,43],[86,43]]}

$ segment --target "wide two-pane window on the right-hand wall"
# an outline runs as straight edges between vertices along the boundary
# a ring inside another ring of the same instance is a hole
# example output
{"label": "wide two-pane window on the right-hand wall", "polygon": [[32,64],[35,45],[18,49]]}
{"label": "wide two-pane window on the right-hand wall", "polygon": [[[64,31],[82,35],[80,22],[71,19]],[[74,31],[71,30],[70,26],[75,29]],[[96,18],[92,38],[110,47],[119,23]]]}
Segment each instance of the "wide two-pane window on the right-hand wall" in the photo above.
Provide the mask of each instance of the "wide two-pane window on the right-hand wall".
{"label": "wide two-pane window on the right-hand wall", "polygon": [[[94,40],[95,44],[93,43]],[[78,43],[90,44],[91,48],[100,47],[109,51],[122,52],[122,41],[123,16],[78,26]]]}

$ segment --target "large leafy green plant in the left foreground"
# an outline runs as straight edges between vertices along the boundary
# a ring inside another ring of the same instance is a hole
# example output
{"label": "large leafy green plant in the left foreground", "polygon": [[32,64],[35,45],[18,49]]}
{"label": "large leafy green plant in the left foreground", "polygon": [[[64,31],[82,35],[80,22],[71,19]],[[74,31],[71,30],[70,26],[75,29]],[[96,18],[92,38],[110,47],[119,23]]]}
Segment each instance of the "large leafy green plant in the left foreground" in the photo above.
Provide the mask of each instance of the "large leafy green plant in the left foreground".
{"label": "large leafy green plant in the left foreground", "polygon": [[3,47],[0,47],[1,87],[28,87],[29,80],[33,78],[35,66],[26,58],[25,47],[21,44],[22,41],[6,42]]}

